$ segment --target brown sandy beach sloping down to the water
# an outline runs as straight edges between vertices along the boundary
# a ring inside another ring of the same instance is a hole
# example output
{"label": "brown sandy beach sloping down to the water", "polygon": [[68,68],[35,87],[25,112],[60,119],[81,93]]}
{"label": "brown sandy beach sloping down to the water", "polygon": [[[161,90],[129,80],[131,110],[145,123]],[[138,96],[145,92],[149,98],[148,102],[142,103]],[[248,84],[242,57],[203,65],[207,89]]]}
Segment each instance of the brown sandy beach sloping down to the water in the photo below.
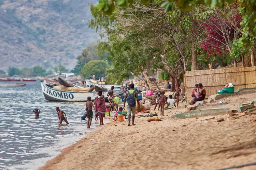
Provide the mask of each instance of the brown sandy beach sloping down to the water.
{"label": "brown sandy beach sloping down to the water", "polygon": [[[256,93],[223,98],[220,100],[227,104],[216,101],[198,109],[237,108],[239,103],[250,102],[255,96]],[[185,110],[173,108],[171,112]],[[165,116],[158,116],[162,121],[147,122],[148,117],[136,117],[135,126],[128,127],[127,120],[107,123],[39,169],[210,170],[256,162],[256,122],[251,121],[256,115],[238,119],[217,115],[203,123],[203,117],[174,120],[170,114],[166,116],[168,111]],[[217,122],[221,118],[224,121]]]}

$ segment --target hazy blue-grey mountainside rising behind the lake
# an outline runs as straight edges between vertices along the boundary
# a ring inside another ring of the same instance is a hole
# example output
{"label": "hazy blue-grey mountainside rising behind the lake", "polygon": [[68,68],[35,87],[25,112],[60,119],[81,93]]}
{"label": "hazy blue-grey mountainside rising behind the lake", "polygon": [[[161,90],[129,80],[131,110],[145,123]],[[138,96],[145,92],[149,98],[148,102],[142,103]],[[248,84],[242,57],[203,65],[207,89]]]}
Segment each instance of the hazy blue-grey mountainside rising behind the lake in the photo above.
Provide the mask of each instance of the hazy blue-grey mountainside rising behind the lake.
{"label": "hazy blue-grey mountainside rising behind the lake", "polygon": [[[76,57],[97,34],[87,26],[88,3],[97,0],[0,0],[0,70],[62,64]],[[51,67],[50,66],[50,67]]]}

